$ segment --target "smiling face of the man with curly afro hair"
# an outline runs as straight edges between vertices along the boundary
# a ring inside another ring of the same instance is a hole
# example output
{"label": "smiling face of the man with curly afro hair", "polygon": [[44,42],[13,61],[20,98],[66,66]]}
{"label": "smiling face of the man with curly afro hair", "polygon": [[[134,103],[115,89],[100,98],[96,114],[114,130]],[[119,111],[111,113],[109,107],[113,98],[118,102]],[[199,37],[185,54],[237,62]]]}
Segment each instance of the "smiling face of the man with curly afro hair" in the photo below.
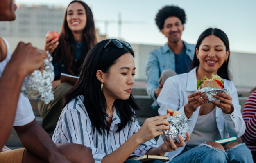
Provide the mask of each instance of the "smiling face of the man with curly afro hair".
{"label": "smiling face of the man with curly afro hair", "polygon": [[168,38],[168,42],[179,42],[181,40],[182,31],[184,30],[181,20],[176,16],[165,19],[161,32]]}

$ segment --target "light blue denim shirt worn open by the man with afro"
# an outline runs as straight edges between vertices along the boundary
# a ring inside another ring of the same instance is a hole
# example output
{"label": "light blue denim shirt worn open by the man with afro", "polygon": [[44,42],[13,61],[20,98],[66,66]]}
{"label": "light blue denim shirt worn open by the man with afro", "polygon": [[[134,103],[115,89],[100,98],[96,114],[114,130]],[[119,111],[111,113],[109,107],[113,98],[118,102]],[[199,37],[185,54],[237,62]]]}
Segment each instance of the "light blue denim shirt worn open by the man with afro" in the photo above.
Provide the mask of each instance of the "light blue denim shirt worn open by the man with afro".
{"label": "light blue denim shirt worn open by the man with afro", "polygon": [[[186,55],[193,60],[195,53],[195,44],[188,44],[183,41],[186,46]],[[172,69],[175,71],[175,54],[166,43],[164,46],[150,52],[146,62],[146,75],[147,75],[147,94],[154,99],[152,108],[158,109],[156,103],[155,90],[159,86],[159,78],[163,70]]]}

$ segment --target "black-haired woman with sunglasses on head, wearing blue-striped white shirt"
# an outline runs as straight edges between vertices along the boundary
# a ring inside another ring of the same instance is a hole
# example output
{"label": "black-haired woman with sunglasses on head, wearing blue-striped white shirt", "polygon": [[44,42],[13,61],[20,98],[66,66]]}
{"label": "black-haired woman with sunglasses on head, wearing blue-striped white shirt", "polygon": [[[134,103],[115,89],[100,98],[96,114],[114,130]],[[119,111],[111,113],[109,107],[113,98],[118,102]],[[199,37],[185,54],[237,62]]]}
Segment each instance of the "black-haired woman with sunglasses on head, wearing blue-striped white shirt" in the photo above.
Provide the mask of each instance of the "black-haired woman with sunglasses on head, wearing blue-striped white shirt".
{"label": "black-haired woman with sunglasses on head, wearing blue-striped white shirt", "polygon": [[180,144],[169,139],[157,147],[154,137],[168,129],[163,120],[168,115],[148,118],[140,128],[134,112],[139,107],[131,95],[134,75],[134,52],[127,42],[97,43],[86,57],[79,81],[65,95],[54,142],[86,145],[95,162],[102,163],[122,163],[132,153],[163,155],[183,146],[180,137]]}

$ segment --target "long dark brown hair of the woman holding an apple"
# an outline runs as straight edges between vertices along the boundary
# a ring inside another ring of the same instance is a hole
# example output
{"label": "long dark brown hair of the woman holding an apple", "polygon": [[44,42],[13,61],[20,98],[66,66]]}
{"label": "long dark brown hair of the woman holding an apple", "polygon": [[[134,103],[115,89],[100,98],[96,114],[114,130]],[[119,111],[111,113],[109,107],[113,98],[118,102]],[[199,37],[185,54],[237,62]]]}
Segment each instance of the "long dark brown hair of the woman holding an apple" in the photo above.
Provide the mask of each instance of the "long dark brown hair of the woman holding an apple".
{"label": "long dark brown hair of the woman holding an apple", "polygon": [[[75,63],[74,61],[75,54],[74,54],[74,48],[73,48],[74,36],[71,30],[68,28],[68,22],[66,19],[68,7],[72,3],[82,4],[84,6],[86,17],[87,17],[86,26],[83,30],[82,40],[84,41],[84,45],[83,45],[82,55],[76,64],[74,64]],[[84,62],[84,59],[88,51],[90,51],[93,45],[97,43],[97,39],[96,39],[95,25],[93,20],[93,13],[90,7],[81,0],[73,0],[72,2],[70,2],[70,4],[68,4],[68,7],[65,12],[65,17],[62,24],[62,28],[61,28],[60,38],[59,38],[59,46],[57,46],[57,48],[54,50],[52,55],[53,55],[53,63],[59,62],[59,66],[60,66],[60,63],[63,62],[66,70],[68,70],[68,72],[71,75],[77,75],[77,73],[79,73],[81,69],[82,63]]]}

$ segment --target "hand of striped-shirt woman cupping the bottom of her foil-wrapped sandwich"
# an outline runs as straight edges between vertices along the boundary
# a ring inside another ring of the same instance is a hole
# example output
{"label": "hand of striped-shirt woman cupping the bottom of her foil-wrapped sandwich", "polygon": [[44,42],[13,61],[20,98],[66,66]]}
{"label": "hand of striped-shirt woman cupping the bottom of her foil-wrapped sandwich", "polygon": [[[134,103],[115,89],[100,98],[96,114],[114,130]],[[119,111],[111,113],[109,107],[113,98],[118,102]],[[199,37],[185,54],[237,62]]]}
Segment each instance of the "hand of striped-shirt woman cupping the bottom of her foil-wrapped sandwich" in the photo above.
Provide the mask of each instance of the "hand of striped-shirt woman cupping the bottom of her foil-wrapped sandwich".
{"label": "hand of striped-shirt woman cupping the bottom of her foil-wrapped sandwich", "polygon": [[[186,134],[187,134],[187,138],[185,141],[189,141],[190,134],[188,132]],[[183,138],[180,135],[178,136],[178,138],[179,138],[180,143],[178,143],[178,142],[174,143],[174,141],[172,140],[171,137],[168,138],[169,141],[166,139],[163,139],[164,143],[161,145],[161,150],[165,153],[165,152],[172,152],[172,151],[177,150],[177,148],[179,148],[179,147],[183,147],[185,145],[185,143],[184,143],[185,141],[183,140]]]}

